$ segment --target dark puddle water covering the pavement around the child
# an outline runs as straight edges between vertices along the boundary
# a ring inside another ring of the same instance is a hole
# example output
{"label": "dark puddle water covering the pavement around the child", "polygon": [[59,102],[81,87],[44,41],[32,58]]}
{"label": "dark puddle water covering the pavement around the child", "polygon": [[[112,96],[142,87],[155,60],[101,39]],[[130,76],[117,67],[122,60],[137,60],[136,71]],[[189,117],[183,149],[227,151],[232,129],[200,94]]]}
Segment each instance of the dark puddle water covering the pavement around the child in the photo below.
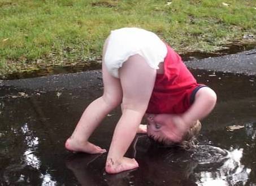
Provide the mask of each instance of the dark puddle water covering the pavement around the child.
{"label": "dark puddle water covering the pavement around the child", "polygon": [[[101,84],[56,91],[0,87],[0,185],[256,185],[256,77],[193,73],[218,94],[214,112],[202,121],[201,146],[194,152],[155,148],[138,135],[127,156],[140,167],[116,175],[104,171],[107,154],[64,149],[86,105],[102,94]],[[108,149],[119,116],[120,109],[111,112],[90,140]],[[233,125],[241,128],[227,128]]]}

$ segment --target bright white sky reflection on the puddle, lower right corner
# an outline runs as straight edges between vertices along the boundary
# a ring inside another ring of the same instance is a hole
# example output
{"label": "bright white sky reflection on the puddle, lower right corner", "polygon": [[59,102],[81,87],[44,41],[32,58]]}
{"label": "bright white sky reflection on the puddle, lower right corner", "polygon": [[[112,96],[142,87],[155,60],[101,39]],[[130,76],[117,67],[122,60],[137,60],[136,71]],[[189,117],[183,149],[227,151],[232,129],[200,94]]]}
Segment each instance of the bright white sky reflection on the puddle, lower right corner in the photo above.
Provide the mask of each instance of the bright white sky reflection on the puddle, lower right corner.
{"label": "bright white sky reflection on the puddle, lower right corner", "polygon": [[[246,151],[244,148],[233,148],[231,147],[228,151],[228,159],[214,171],[200,171],[195,174],[197,178],[198,185],[247,185],[248,180],[250,179],[251,172],[255,167],[253,164],[248,165],[243,164],[241,161],[244,159],[246,162],[254,163],[253,160],[248,160],[248,156],[251,153],[251,149],[255,148],[255,123],[245,123],[244,127],[240,127],[236,134],[239,135],[245,134],[248,137],[248,140],[239,139],[242,143],[245,144]],[[232,131],[233,132],[233,131]],[[232,136],[233,137],[233,136]],[[233,144],[232,146],[236,146]],[[251,154],[251,156],[253,156]],[[248,164],[248,163],[246,163]],[[252,168],[252,169],[251,169]]]}

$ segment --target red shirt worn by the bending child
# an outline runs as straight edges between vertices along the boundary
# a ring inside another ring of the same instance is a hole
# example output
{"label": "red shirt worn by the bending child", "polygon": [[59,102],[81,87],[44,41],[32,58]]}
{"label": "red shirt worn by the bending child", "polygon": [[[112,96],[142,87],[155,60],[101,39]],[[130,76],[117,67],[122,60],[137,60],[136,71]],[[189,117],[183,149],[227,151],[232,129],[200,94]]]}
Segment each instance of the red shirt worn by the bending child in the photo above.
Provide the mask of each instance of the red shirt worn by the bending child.
{"label": "red shirt worn by the bending child", "polygon": [[191,105],[190,95],[197,86],[181,57],[167,45],[164,73],[157,74],[146,113],[184,113]]}

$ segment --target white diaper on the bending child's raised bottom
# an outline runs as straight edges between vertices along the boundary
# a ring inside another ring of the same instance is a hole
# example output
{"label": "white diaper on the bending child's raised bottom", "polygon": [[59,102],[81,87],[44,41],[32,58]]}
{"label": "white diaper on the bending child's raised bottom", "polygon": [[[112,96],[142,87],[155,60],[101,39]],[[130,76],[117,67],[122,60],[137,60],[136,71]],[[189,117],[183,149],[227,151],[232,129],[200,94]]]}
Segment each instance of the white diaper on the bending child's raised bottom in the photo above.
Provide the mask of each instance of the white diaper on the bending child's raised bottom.
{"label": "white diaper on the bending child's raised bottom", "polygon": [[106,48],[104,61],[109,73],[119,78],[118,69],[132,55],[139,54],[153,69],[159,69],[164,61],[167,48],[154,33],[140,28],[121,28],[112,30]]}

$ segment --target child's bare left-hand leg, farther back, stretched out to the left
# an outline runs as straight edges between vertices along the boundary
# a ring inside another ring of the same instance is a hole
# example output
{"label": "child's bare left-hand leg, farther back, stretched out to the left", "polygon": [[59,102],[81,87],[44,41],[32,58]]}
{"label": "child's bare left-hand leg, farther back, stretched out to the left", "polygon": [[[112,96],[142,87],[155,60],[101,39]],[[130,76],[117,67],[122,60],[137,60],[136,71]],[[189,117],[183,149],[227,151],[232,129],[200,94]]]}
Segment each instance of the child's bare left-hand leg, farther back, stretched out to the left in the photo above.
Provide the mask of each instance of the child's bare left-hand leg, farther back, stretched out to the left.
{"label": "child's bare left-hand leg, farther back, stretched out to the left", "polygon": [[[106,45],[107,41],[103,48],[103,54],[105,54]],[[85,109],[80,121],[77,123],[75,131],[73,131],[71,137],[66,141],[66,148],[68,150],[92,154],[106,152],[105,149],[89,143],[88,138],[106,114],[121,103],[123,92],[120,80],[112,77],[107,72],[105,63],[102,63],[102,76],[104,85],[103,96],[94,100]]]}

